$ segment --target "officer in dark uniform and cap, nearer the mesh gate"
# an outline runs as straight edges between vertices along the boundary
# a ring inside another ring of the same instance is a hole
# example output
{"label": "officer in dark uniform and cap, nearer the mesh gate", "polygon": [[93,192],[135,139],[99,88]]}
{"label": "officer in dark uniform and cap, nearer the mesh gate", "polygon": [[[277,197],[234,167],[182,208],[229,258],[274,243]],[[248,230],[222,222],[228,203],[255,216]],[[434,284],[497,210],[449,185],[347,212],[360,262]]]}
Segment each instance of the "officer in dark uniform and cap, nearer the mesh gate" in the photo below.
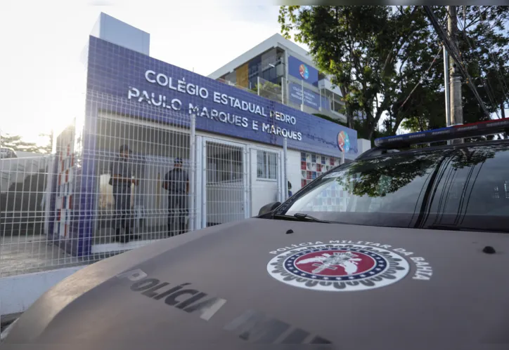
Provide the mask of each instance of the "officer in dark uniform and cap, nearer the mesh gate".
{"label": "officer in dark uniform and cap, nearer the mesh gate", "polygon": [[182,160],[176,158],[174,168],[165,175],[162,187],[168,191],[168,236],[183,234],[187,216],[187,194],[189,192],[189,177],[182,169]]}

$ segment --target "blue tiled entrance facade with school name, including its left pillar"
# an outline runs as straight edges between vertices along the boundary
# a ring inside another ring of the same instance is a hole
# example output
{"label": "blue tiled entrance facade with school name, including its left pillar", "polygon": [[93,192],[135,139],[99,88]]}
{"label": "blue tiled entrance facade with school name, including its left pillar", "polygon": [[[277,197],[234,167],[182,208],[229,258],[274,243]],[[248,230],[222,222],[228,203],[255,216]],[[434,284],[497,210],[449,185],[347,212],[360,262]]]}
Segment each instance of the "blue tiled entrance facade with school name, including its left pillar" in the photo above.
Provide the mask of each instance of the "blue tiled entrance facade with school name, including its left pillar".
{"label": "blue tiled entrance facade with school name, including its left pillar", "polygon": [[[206,59],[206,58],[204,58]],[[199,96],[179,93],[168,87],[162,87],[146,80],[145,73],[150,69],[156,74],[162,73],[173,79],[176,86],[177,80],[184,80],[196,86],[206,88],[209,96],[202,99]],[[270,123],[274,126],[286,128],[302,134],[302,140],[288,139],[288,147],[303,149],[309,152],[340,156],[337,144],[337,135],[340,131],[348,133],[350,151],[346,154],[347,159],[354,159],[357,153],[356,131],[344,128],[336,123],[311,116],[297,109],[281,105],[278,102],[259,97],[238,88],[227,86],[219,81],[214,81],[205,76],[200,76],[186,69],[169,65],[160,60],[155,60],[141,53],[122,48],[94,36],[89,38],[89,58],[87,71],[87,93],[85,120],[82,133],[82,149],[76,151],[80,154],[80,168],[75,177],[75,196],[73,197],[72,227],[70,234],[73,239],[67,240],[66,250],[73,255],[89,255],[94,234],[94,215],[96,215],[96,193],[98,189],[97,179],[97,156],[96,135],[98,134],[97,118],[100,111],[131,116],[136,119],[147,119],[158,123],[178,124],[188,127],[190,124],[188,104],[217,109],[220,112],[236,114],[248,120],[248,127],[244,128],[231,123],[223,123],[206,116],[198,115],[196,128],[209,133],[228,135],[252,142],[274,144],[282,146],[283,137],[262,131],[262,123]],[[154,93],[166,96],[167,100],[177,98],[182,102],[183,109],[174,111],[165,107],[155,107],[147,102],[138,102],[137,99],[129,100],[128,91],[131,88],[146,90],[149,94]],[[241,101],[249,102],[263,108],[266,116],[252,114],[243,110],[221,105],[213,100],[214,92],[236,97]],[[270,111],[294,116],[295,125],[275,120],[269,116]],[[253,130],[252,124],[256,122],[259,130]]]}

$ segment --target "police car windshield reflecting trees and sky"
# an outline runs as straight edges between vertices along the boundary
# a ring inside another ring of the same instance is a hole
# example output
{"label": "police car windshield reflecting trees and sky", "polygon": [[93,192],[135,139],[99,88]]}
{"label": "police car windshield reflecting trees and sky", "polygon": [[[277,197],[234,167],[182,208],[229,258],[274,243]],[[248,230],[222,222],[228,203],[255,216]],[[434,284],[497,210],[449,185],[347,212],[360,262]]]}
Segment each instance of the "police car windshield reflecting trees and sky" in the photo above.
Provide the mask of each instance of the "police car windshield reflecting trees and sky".
{"label": "police car windshield reflecting trees and sky", "polygon": [[278,214],[387,227],[509,231],[509,144],[401,152],[346,164]]}

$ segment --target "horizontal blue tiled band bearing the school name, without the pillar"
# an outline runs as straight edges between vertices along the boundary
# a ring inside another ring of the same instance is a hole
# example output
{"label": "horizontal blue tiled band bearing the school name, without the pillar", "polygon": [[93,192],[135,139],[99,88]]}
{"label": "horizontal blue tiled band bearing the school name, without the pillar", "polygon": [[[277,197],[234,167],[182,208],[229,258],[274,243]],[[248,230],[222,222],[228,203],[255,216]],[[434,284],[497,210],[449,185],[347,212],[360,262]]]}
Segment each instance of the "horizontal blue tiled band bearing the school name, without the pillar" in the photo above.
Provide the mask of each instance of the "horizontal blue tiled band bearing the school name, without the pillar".
{"label": "horizontal blue tiled band bearing the school name, without the pillar", "polygon": [[[185,79],[187,83],[193,83],[202,88],[207,88],[209,97],[202,99],[198,96],[188,95],[186,93],[179,93],[168,87],[159,86],[157,83],[149,83],[145,78],[145,72],[150,69],[158,73],[165,74],[173,79],[174,86],[179,79]],[[127,93],[130,87],[137,88],[138,90],[146,90],[148,93],[155,93],[158,95],[167,96],[168,100],[178,98],[183,102],[186,107],[182,112],[173,112],[164,107],[158,109],[157,115],[143,115],[143,106],[147,105],[146,102],[138,102],[136,100],[127,100]],[[137,117],[153,119],[164,123],[172,123],[176,118],[188,118],[188,103],[193,105],[200,105],[210,109],[215,108],[219,111],[237,114],[246,117],[249,120],[249,126],[243,128],[233,124],[222,123],[220,121],[207,119],[205,116],[198,116],[196,127],[198,130],[204,130],[211,133],[228,135],[238,137],[245,140],[252,140],[254,142],[262,142],[265,144],[283,144],[283,137],[264,133],[262,131],[262,123],[272,123],[281,128],[288,130],[295,130],[302,133],[302,140],[288,139],[288,147],[295,149],[304,149],[309,152],[327,154],[329,156],[340,156],[340,150],[337,146],[337,135],[340,131],[344,130],[349,135],[351,142],[351,149],[345,155],[347,159],[354,159],[357,153],[355,130],[344,128],[337,123],[327,121],[325,119],[306,114],[297,109],[281,105],[278,102],[273,102],[263,97],[259,97],[253,93],[240,90],[233,86],[228,86],[219,81],[209,79],[205,76],[200,76],[186,69],[181,69],[173,65],[169,65],[160,60],[155,60],[141,53],[130,51],[127,48],[122,48],[107,41],[103,41],[94,36],[90,37],[89,44],[89,67],[88,67],[88,83],[87,88],[89,91],[94,91],[99,94],[104,94],[119,97],[124,100],[124,112],[126,114],[135,114]],[[254,103],[263,107],[267,116],[259,116],[251,114],[229,105],[221,105],[213,101],[213,93],[225,93],[228,96],[236,97],[245,102]],[[134,102],[134,103],[125,103]],[[105,109],[122,109],[119,105],[110,103],[110,106],[103,106]],[[269,111],[275,110],[290,116],[295,116],[297,123],[291,125],[278,120],[273,120],[269,117]],[[122,112],[122,111],[120,111]],[[259,130],[253,130],[252,121],[256,121],[259,125]]]}

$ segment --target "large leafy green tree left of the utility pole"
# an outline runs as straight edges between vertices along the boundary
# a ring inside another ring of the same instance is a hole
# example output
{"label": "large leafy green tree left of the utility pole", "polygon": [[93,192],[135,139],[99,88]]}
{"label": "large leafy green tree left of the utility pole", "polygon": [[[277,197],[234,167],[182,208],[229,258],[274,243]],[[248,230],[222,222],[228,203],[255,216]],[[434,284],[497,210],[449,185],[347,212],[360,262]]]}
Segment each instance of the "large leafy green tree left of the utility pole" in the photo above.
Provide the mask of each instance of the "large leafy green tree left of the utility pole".
{"label": "large leafy green tree left of the utility pole", "polygon": [[[359,134],[371,140],[384,112],[394,133],[415,104],[401,104],[439,49],[419,6],[281,6],[281,31],[306,43],[316,65],[344,95],[348,126],[366,115]],[[430,80],[432,82],[433,79]],[[430,87],[421,86],[425,95]]]}

